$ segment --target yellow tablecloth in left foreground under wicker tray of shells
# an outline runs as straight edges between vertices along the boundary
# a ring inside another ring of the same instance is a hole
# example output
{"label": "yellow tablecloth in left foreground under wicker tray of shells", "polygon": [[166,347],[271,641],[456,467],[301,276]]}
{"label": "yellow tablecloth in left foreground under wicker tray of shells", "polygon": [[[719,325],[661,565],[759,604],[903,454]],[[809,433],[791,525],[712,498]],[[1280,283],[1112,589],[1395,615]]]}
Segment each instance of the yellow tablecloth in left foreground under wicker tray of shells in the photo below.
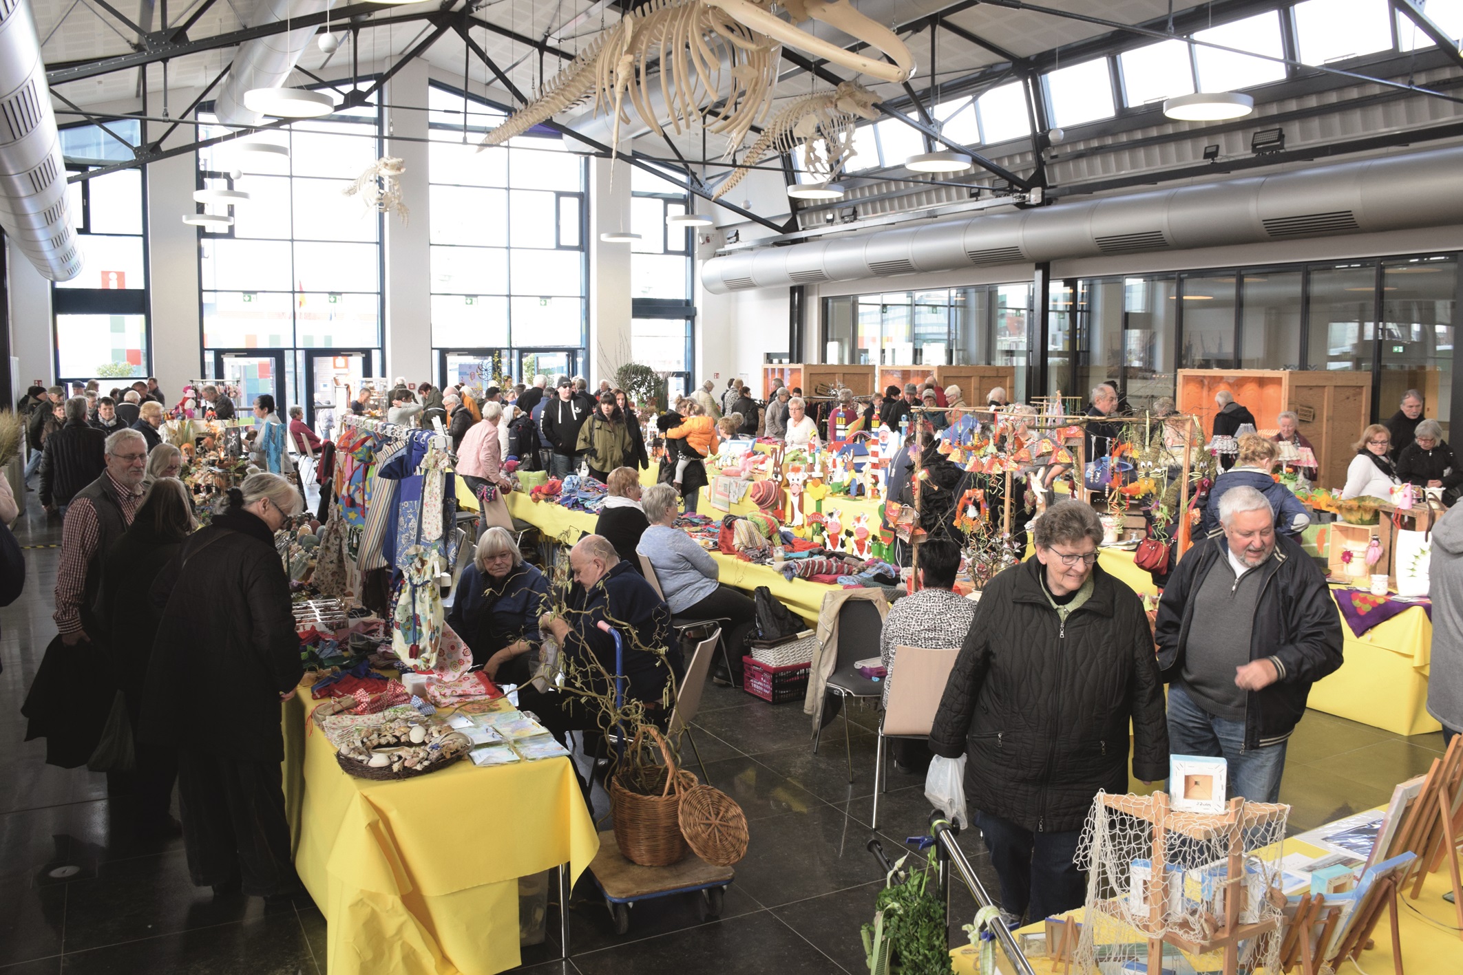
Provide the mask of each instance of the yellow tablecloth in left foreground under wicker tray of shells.
{"label": "yellow tablecloth in left foreground under wicker tray of shells", "polygon": [[284,709],[296,868],[325,915],[331,975],[490,975],[519,963],[518,877],[600,848],[568,759],[478,767],[462,759],[405,782],[347,775]]}

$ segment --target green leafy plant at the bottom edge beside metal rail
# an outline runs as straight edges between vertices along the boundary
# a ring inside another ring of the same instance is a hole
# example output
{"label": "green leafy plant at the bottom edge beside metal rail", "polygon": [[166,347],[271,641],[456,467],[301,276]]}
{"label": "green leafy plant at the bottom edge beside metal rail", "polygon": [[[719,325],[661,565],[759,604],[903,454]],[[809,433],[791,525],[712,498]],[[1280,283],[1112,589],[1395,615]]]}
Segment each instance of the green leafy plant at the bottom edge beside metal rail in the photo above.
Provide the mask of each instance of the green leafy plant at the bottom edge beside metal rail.
{"label": "green leafy plant at the bottom edge beside metal rail", "polygon": [[933,848],[926,862],[911,865],[903,881],[895,874],[909,860],[901,857],[890,871],[888,884],[873,902],[872,924],[863,925],[863,952],[873,975],[945,975],[954,972],[945,931],[945,905],[938,896]]}

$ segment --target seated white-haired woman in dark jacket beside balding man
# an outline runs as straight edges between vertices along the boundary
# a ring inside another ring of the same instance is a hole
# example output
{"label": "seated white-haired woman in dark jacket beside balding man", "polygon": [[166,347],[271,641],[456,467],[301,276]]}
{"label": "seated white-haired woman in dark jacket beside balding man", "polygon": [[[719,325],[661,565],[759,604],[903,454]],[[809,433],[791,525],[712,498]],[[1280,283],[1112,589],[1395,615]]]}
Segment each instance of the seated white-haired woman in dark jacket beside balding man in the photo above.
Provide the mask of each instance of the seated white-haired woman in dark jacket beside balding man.
{"label": "seated white-haired woman in dark jacket beside balding man", "polygon": [[508,529],[483,532],[448,612],[474,664],[500,684],[527,683],[527,653],[538,643],[538,617],[547,610],[549,579],[524,561]]}

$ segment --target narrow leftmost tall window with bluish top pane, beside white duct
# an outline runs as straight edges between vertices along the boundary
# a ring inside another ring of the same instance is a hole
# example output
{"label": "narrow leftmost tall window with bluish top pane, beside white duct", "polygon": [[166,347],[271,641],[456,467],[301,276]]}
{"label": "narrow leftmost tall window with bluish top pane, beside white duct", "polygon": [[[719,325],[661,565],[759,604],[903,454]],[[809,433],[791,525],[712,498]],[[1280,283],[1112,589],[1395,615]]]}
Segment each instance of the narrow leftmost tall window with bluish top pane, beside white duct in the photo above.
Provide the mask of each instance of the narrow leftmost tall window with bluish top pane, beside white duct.
{"label": "narrow leftmost tall window with bluish top pane, beside white duct", "polygon": [[[110,132],[108,132],[110,130]],[[61,129],[69,174],[133,158],[138,121]],[[139,170],[70,183],[67,203],[82,272],[51,288],[57,382],[98,379],[102,389],[148,376],[146,190]],[[111,382],[108,382],[111,380]]]}

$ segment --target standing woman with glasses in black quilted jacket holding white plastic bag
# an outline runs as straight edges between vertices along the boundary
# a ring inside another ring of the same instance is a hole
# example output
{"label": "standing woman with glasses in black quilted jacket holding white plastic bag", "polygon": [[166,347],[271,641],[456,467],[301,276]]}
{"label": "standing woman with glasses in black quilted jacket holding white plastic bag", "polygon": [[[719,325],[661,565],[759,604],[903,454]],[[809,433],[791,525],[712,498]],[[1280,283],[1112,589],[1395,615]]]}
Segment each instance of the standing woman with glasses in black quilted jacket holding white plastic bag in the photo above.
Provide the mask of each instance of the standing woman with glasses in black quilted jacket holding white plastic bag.
{"label": "standing woman with glasses in black quilted jacket holding white plastic bag", "polygon": [[1001,906],[1045,918],[1083,903],[1077,841],[1099,791],[1169,772],[1163,686],[1143,602],[1097,566],[1102,523],[1077,500],[1033,522],[1036,555],[976,604],[929,744],[969,754],[966,801]]}

